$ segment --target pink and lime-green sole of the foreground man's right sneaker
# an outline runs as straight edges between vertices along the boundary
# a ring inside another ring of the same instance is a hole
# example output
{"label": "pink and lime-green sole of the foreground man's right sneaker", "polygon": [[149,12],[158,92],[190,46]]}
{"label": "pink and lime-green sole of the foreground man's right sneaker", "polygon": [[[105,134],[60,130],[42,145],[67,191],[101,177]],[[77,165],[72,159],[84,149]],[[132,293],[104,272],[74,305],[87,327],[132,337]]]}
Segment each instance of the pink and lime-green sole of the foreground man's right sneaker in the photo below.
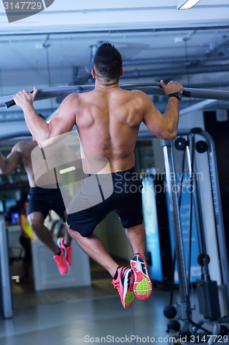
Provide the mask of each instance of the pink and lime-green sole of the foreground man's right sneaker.
{"label": "pink and lime-green sole of the foreground man's right sneaker", "polygon": [[[140,269],[136,267],[137,263],[138,266],[140,266]],[[151,280],[149,279],[149,277],[147,277],[147,275],[144,275],[144,273],[142,273],[141,263],[139,262],[139,260],[134,261],[131,259],[130,264],[135,279],[135,282],[133,284],[133,292],[135,296],[141,300],[148,299],[152,292]]]}

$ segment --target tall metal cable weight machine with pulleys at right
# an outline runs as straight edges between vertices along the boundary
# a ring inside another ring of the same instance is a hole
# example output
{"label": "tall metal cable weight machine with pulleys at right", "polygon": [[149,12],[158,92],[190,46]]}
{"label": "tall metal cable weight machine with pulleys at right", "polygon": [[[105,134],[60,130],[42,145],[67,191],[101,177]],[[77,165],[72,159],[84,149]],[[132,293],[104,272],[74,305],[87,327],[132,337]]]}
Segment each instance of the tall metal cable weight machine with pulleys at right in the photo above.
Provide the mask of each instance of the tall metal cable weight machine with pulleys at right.
{"label": "tall metal cable weight machine with pulleys at right", "polygon": [[[188,133],[186,133],[187,135]],[[209,143],[206,144],[206,141],[201,141],[201,144],[195,145],[195,135],[203,135],[203,137],[207,137]],[[194,168],[194,155],[195,155],[195,148],[197,148],[197,152],[206,152],[208,150],[208,159],[209,159],[209,165],[210,165],[210,181],[212,184],[212,194],[213,195],[213,201],[215,203],[215,215],[219,213],[219,193],[217,190],[217,171],[216,167],[213,166],[212,161],[212,155],[214,157],[215,150],[213,148],[212,139],[210,140],[210,136],[206,133],[204,135],[204,132],[201,131],[199,128],[195,128],[190,131],[189,135],[192,137],[192,158],[188,157],[189,161],[189,173],[193,173]],[[180,140],[180,139],[179,139]],[[170,175],[171,172],[175,173],[175,164],[174,164],[174,156],[173,156],[173,144],[170,142],[169,144],[167,142],[162,141],[162,146],[164,148],[164,157],[166,162],[166,175]],[[176,145],[175,145],[176,146]],[[178,146],[179,147],[179,146]],[[212,149],[212,150],[211,150]],[[211,151],[210,151],[211,150]],[[215,170],[215,174],[213,172]],[[214,175],[214,176],[213,176]],[[191,179],[193,181],[193,179]],[[171,181],[173,183],[173,181]],[[201,279],[197,279],[197,296],[198,296],[198,302],[199,302],[199,313],[201,315],[204,315],[204,318],[199,320],[199,322],[195,323],[193,322],[193,319],[191,319],[191,310],[190,310],[190,249],[188,253],[188,268],[186,268],[186,263],[184,260],[184,246],[183,246],[183,239],[182,239],[182,232],[180,231],[181,228],[181,219],[179,215],[179,205],[177,201],[177,193],[172,193],[168,190],[168,194],[170,194],[171,202],[173,202],[174,208],[175,208],[175,219],[174,221],[174,227],[173,227],[173,233],[175,237],[175,250],[176,250],[176,257],[177,257],[177,269],[178,269],[178,275],[179,275],[179,288],[182,291],[181,297],[182,302],[179,302],[176,304],[177,311],[179,311],[177,315],[177,319],[180,319],[184,322],[184,325],[181,328],[181,331],[179,332],[179,337],[182,339],[186,339],[186,342],[190,341],[191,335],[194,337],[197,337],[197,331],[201,328],[206,332],[206,335],[215,335],[220,337],[219,332],[221,329],[221,324],[226,323],[229,321],[229,317],[222,317],[220,313],[220,307],[219,307],[219,294],[218,294],[218,287],[217,282],[210,280],[210,276],[208,273],[208,262],[209,257],[206,255],[206,246],[205,246],[205,239],[204,239],[204,233],[203,231],[200,231],[201,234],[201,244],[202,244],[202,250],[203,253],[201,253],[199,257],[199,262],[202,264],[204,270],[202,270]],[[192,229],[192,210],[193,210],[193,193],[191,193],[190,196],[190,233],[189,233],[189,248],[190,248],[190,239],[191,239],[191,229]],[[218,217],[219,218],[219,217]],[[217,219],[217,224],[220,224],[219,219]],[[221,221],[221,230],[223,230],[222,221]],[[217,234],[219,237],[223,237],[224,233],[219,234],[219,228],[217,231]],[[219,242],[221,239],[219,239]],[[219,250],[221,252],[221,250]],[[223,265],[223,258],[224,261],[226,260],[226,248],[224,246],[223,253],[220,253],[221,255],[221,263]],[[227,265],[228,266],[228,265]],[[225,267],[224,267],[225,268]],[[188,273],[186,271],[188,270]],[[228,271],[228,267],[226,268]],[[225,273],[225,272],[224,272]],[[180,279],[180,277],[182,279]],[[223,282],[226,282],[226,275],[224,275]],[[203,328],[203,324],[210,324],[213,326],[212,333]],[[192,326],[195,326],[192,328]],[[168,330],[170,330],[168,326]],[[226,333],[228,334],[228,333]],[[208,338],[208,344],[212,344],[215,340],[214,337]],[[220,340],[221,338],[219,338]],[[179,342],[180,344],[184,344],[182,342]]]}

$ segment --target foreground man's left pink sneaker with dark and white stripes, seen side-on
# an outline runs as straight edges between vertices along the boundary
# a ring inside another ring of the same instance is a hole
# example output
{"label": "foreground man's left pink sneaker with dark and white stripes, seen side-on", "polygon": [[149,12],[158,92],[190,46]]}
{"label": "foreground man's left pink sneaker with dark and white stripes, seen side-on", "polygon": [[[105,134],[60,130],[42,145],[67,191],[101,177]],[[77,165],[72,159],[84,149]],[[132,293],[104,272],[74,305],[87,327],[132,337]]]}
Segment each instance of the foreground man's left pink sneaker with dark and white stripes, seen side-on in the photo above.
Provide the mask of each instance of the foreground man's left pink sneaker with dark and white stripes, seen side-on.
{"label": "foreground man's left pink sneaker with dark and white stripes, seen side-on", "polygon": [[122,306],[124,306],[125,309],[129,308],[135,300],[135,295],[133,293],[133,270],[131,270],[131,268],[118,266],[112,284],[113,287],[118,290]]}

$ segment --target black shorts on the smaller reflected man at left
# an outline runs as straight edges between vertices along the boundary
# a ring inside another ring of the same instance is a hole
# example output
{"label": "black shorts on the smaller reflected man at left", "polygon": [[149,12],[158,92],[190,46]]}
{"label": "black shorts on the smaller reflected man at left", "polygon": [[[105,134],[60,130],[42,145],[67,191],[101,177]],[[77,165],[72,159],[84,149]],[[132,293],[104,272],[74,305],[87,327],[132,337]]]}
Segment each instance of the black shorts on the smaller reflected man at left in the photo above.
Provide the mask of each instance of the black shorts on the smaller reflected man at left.
{"label": "black shorts on the smaller reflected man at left", "polygon": [[64,218],[65,204],[59,188],[32,187],[28,195],[27,216],[33,212],[41,212],[44,218],[50,210],[54,210],[60,217]]}

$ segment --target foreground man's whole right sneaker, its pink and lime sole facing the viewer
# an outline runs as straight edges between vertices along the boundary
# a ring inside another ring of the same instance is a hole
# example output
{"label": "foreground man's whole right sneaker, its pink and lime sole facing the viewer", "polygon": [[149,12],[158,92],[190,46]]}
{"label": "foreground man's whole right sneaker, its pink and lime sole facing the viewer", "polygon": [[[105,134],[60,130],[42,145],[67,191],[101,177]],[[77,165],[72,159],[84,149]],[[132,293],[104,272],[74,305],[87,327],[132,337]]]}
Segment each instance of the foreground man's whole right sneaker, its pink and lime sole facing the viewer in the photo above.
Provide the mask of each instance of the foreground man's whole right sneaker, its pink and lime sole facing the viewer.
{"label": "foreground man's whole right sneaker, its pink and lime sole facing the viewer", "polygon": [[152,292],[151,279],[149,279],[148,266],[142,254],[137,253],[131,259],[133,269],[134,284],[133,292],[138,299],[147,299]]}

